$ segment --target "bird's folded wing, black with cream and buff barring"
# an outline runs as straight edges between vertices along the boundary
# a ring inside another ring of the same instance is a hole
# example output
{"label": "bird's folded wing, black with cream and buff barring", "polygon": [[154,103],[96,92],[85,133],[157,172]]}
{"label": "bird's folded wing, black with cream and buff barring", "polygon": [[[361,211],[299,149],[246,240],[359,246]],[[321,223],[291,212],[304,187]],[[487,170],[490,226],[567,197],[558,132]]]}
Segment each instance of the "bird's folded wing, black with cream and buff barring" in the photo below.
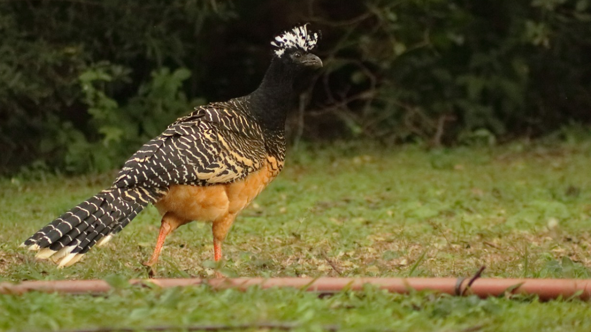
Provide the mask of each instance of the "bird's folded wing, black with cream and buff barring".
{"label": "bird's folded wing, black with cream and buff barring", "polygon": [[229,108],[199,108],[129,158],[113,186],[229,183],[261,168],[266,157],[252,119]]}

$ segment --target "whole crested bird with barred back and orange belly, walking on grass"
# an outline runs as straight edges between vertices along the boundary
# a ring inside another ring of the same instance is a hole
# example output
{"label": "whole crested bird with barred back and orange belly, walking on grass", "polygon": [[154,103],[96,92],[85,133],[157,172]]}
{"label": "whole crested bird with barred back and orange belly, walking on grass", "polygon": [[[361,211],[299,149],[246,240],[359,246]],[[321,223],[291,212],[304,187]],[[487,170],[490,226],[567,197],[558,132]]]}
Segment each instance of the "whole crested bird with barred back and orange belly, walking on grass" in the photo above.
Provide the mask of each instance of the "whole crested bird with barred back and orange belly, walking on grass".
{"label": "whole crested bird with barred back and orange belly, walking on grass", "polygon": [[236,216],[281,172],[285,120],[294,83],[323,66],[311,51],[321,38],[297,24],[271,41],[271,62],[249,95],[196,107],[143,145],[125,162],[111,187],[73,207],[25,240],[60,268],[71,266],[93,246],[120,232],[148,204],[161,214],[151,258],[153,268],[165,238],[194,220],[212,223],[213,255]]}

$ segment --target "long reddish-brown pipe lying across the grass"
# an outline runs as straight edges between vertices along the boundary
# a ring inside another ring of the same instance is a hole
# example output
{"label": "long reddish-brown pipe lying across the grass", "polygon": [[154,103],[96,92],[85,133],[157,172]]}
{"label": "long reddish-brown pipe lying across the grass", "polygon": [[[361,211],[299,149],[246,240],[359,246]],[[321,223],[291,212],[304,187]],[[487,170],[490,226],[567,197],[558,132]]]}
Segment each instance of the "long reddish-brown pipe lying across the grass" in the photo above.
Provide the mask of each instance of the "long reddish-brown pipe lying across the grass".
{"label": "long reddish-brown pipe lying across the grass", "polygon": [[[470,294],[481,298],[506,294],[538,295],[540,300],[558,297],[591,298],[591,279],[495,279],[495,278],[228,278],[228,279],[132,279],[131,285],[155,285],[157,287],[187,287],[207,285],[213,289],[249,287],[292,287],[322,293],[339,292],[343,289],[361,291],[363,285],[387,289],[389,292],[431,290],[450,295],[462,295],[468,282],[472,282]],[[459,285],[458,285],[459,284]],[[19,284],[0,283],[0,294],[23,294],[30,291],[60,292],[70,294],[100,293],[112,287],[103,280],[23,281]]]}

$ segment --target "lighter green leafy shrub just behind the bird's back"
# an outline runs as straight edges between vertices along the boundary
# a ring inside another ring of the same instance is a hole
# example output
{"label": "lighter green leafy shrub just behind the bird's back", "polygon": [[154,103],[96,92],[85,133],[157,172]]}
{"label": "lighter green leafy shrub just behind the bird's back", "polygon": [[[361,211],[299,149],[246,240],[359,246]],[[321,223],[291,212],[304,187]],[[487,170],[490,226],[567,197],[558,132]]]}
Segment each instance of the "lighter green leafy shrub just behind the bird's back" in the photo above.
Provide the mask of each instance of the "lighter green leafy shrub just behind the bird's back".
{"label": "lighter green leafy shrub just behind the bird's back", "polygon": [[99,63],[80,74],[83,102],[90,116],[86,130],[72,122],[54,125],[40,142],[46,153],[63,154],[63,168],[70,172],[106,171],[118,167],[137,147],[160,134],[167,123],[186,112],[199,100],[187,100],[181,88],[190,71],[180,68],[172,73],[166,67],[153,71],[151,80],[142,84],[137,95],[125,105],[108,96],[113,84],[128,80],[129,70]]}

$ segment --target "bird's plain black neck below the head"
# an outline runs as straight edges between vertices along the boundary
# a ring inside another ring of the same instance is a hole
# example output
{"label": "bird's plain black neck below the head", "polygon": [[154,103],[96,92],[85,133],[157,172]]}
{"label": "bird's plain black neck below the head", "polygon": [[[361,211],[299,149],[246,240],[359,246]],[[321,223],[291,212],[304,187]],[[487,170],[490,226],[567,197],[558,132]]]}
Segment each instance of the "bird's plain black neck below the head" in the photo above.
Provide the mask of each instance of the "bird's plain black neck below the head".
{"label": "bird's plain black neck below the head", "polygon": [[274,57],[261,85],[251,93],[253,114],[264,129],[284,131],[287,112],[293,106],[293,85],[298,72],[297,66]]}

